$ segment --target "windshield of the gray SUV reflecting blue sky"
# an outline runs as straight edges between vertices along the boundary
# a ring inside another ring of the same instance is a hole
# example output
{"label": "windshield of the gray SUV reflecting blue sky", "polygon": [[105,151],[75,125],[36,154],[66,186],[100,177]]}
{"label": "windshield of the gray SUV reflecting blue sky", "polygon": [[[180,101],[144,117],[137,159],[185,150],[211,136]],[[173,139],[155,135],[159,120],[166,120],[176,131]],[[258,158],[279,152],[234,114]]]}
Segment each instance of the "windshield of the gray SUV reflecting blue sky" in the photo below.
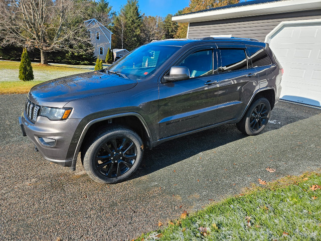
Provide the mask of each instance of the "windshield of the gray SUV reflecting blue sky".
{"label": "windshield of the gray SUV reflecting blue sky", "polygon": [[156,44],[143,45],[119,59],[108,70],[124,74],[130,79],[143,79],[154,73],[179,48]]}

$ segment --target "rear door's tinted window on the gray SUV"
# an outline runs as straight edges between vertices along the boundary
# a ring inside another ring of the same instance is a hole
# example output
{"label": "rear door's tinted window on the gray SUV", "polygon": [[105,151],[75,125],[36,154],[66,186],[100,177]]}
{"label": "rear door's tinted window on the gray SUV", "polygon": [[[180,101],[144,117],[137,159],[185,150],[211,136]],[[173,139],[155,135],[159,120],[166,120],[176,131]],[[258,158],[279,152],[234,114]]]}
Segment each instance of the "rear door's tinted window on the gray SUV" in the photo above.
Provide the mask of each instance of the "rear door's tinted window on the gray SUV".
{"label": "rear door's tinted window on the gray SUV", "polygon": [[222,72],[247,69],[244,49],[221,49]]}

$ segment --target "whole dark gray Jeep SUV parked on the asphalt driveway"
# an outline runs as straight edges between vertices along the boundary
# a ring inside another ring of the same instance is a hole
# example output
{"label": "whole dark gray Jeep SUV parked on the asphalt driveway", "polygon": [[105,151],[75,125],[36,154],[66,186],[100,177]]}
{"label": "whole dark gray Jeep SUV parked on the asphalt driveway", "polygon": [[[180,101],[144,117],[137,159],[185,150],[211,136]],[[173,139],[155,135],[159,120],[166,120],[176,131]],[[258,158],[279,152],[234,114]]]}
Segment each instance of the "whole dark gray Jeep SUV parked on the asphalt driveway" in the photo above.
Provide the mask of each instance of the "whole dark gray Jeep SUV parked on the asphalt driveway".
{"label": "whole dark gray Jeep SUV parked on the asphalt driveway", "polygon": [[116,183],[145,148],[222,124],[257,135],[281,91],[283,69],[252,39],[164,40],[143,45],[101,71],[33,87],[19,118],[48,161]]}

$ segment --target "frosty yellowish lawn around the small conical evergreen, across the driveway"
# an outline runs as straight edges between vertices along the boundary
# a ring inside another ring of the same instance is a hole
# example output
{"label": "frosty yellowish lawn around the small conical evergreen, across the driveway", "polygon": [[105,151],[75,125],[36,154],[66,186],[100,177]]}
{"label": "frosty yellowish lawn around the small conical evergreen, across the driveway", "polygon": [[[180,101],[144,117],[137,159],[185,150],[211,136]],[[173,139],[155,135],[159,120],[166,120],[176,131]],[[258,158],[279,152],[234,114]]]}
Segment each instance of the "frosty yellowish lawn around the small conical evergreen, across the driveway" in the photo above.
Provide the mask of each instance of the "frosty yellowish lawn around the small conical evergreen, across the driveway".
{"label": "frosty yellowish lawn around the small conical evergreen, across the driveway", "polygon": [[30,88],[38,83],[94,70],[93,65],[50,64],[44,66],[32,63],[35,79],[23,82],[18,77],[19,65],[19,61],[0,61],[0,94],[28,93]]}

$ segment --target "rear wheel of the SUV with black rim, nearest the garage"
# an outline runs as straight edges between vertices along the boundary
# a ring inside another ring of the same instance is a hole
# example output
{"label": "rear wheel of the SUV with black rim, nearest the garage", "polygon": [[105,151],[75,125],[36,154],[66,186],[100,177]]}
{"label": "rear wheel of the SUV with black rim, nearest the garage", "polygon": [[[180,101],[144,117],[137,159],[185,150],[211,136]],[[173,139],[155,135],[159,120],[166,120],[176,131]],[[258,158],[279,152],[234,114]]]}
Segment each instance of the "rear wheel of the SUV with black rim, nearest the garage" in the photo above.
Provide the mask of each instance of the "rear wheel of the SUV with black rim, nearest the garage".
{"label": "rear wheel of the SUV with black rim, nearest the garage", "polygon": [[264,130],[268,123],[270,112],[270,102],[266,98],[256,99],[250,105],[241,121],[236,124],[236,127],[246,135],[257,135]]}

